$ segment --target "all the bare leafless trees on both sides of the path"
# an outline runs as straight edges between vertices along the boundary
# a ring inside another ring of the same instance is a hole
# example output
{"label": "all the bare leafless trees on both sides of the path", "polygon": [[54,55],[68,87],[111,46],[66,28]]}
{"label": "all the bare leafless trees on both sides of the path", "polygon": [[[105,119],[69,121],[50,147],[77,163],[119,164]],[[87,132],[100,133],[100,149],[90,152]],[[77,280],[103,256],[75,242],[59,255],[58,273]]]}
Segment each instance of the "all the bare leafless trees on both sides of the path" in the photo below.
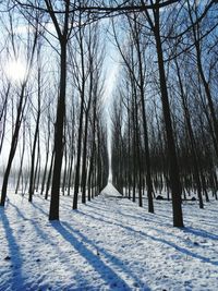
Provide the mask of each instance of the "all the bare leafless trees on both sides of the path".
{"label": "all the bare leafless trees on both sides of the path", "polygon": [[[13,129],[1,205],[5,202],[16,147],[21,144],[21,157],[23,153],[25,156],[27,134],[31,141],[29,201],[34,185],[41,183],[44,189],[45,177],[49,181],[52,177],[50,219],[59,218],[62,181],[64,189],[66,181],[70,185],[73,180],[73,208],[76,208],[80,186],[85,202],[85,185],[93,183],[100,189],[106,184],[108,154],[101,106],[104,50],[99,23],[110,17],[110,32],[122,68],[111,113],[113,183],[120,192],[125,187],[133,199],[138,193],[141,206],[146,187],[150,213],[154,196],[166,189],[172,199],[173,226],[183,227],[182,193],[186,197],[186,193],[195,191],[203,207],[203,194],[208,201],[208,191],[213,190],[215,196],[217,191],[217,1],[5,2],[2,13],[8,20],[2,24],[7,33],[1,51],[10,51],[17,58],[16,44],[19,48],[26,44],[28,65],[20,87],[14,88],[9,80],[1,86],[0,149],[8,120]],[[25,38],[17,36],[14,29],[15,11],[19,19],[22,15],[23,27],[29,27]],[[45,74],[41,56],[55,52],[59,56],[58,72],[53,63],[49,63],[46,66],[50,71]],[[33,74],[33,68],[37,68],[37,73]],[[14,92],[15,104],[10,97]],[[29,130],[31,111],[35,126]],[[41,137],[37,132],[41,125],[48,156],[45,174],[38,182],[43,162]]]}

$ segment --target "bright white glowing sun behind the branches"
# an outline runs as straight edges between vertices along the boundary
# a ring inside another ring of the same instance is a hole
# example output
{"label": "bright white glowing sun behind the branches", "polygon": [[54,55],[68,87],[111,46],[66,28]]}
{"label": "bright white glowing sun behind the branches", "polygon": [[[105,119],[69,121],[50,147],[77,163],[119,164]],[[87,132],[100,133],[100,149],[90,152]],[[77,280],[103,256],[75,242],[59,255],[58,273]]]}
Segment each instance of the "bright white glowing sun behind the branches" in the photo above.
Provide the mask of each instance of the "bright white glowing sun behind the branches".
{"label": "bright white glowing sun behind the branches", "polygon": [[7,76],[15,83],[22,83],[26,76],[26,64],[21,60],[10,60],[5,65]]}

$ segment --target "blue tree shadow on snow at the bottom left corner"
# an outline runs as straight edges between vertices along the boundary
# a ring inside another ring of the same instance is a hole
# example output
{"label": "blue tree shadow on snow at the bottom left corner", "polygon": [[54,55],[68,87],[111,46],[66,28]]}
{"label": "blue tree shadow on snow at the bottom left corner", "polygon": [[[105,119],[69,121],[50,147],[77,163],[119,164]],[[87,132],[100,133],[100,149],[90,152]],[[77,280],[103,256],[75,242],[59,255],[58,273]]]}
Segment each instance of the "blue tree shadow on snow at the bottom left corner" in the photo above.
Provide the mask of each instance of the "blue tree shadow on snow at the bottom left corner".
{"label": "blue tree shadow on snow at the bottom left corner", "polygon": [[0,207],[0,218],[2,221],[2,226],[5,232],[5,239],[8,241],[8,246],[9,246],[9,254],[5,255],[5,258],[8,258],[5,262],[8,263],[5,264],[8,264],[7,268],[8,269],[10,268],[10,272],[12,274],[8,282],[5,281],[2,282],[3,289],[1,289],[1,282],[0,282],[0,289],[1,290],[25,290],[25,278],[23,277],[23,274],[22,274],[23,258],[21,255],[21,250],[13,234],[13,230],[10,226],[10,222],[4,213],[4,209],[1,207]]}

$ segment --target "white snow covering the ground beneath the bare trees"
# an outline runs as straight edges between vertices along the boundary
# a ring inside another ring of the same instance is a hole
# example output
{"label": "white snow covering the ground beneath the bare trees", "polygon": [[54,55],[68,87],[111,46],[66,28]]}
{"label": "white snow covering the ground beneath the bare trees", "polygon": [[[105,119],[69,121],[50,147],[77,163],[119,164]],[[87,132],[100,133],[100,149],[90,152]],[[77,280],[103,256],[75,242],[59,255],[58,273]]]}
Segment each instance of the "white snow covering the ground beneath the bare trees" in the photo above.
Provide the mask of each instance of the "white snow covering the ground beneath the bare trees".
{"label": "white snow covering the ground beneath the bare trees", "polygon": [[217,202],[183,205],[184,229],[172,228],[171,204],[122,198],[111,184],[72,210],[61,196],[60,222],[49,201],[10,194],[0,208],[0,290],[218,290]]}

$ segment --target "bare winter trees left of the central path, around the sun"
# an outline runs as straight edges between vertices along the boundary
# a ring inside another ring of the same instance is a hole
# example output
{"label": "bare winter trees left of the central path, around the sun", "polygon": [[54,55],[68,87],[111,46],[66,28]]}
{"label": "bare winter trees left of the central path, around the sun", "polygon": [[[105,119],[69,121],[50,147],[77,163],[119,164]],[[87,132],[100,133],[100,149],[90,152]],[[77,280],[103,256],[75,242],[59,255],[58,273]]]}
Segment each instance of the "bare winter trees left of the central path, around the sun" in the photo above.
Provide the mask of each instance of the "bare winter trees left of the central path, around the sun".
{"label": "bare winter trees left of the central path, around the sun", "polygon": [[[5,204],[15,161],[16,192],[22,187],[32,202],[35,191],[45,198],[50,191],[53,220],[59,219],[60,191],[70,195],[72,190],[76,209],[80,193],[86,203],[107,184],[105,51],[97,22],[83,25],[88,17],[71,12],[70,1],[60,1],[61,14],[56,3],[44,4],[45,11],[8,7],[1,22],[0,149],[8,159],[0,204]],[[4,61],[13,70],[23,61],[25,74],[8,75]]]}

